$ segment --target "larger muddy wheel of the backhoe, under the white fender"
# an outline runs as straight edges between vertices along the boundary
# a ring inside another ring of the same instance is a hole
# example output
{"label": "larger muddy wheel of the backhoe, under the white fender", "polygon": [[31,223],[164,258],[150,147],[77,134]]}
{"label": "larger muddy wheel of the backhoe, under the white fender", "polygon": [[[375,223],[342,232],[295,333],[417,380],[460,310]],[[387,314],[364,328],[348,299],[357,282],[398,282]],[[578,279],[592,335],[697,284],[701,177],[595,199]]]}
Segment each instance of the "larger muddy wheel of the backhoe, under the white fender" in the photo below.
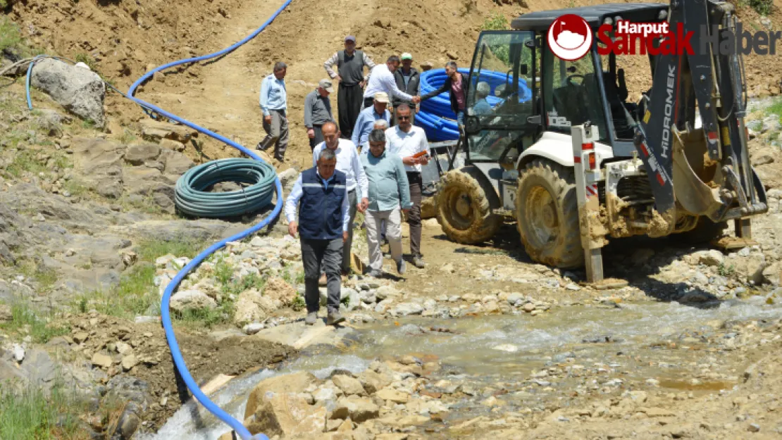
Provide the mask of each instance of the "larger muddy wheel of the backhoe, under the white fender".
{"label": "larger muddy wheel of the backhoe, under the white fender", "polygon": [[562,269],[583,266],[572,169],[547,159],[528,163],[518,177],[516,220],[529,258]]}

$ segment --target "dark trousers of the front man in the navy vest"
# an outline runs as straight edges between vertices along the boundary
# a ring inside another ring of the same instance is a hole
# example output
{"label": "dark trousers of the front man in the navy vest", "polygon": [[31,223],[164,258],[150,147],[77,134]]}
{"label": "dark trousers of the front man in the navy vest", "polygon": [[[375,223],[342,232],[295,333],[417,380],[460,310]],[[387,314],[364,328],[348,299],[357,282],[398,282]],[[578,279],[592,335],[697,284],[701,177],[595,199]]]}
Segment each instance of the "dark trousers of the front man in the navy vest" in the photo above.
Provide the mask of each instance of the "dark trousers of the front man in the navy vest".
{"label": "dark trousers of the front man in the navy vest", "polygon": [[321,309],[321,293],[317,281],[321,277],[321,267],[326,273],[328,291],[328,313],[339,312],[339,294],[342,279],[339,263],[342,261],[342,238],[334,240],[301,239],[301,259],[304,264],[304,301],[307,312]]}

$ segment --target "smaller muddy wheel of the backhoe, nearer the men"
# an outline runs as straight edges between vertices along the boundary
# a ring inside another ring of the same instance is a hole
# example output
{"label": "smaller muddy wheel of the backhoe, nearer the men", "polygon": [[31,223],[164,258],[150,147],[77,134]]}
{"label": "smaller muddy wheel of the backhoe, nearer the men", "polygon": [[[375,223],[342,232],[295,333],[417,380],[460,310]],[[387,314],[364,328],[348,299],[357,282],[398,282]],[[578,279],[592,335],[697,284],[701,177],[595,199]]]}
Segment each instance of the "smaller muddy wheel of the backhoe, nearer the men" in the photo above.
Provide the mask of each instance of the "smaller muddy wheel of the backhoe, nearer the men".
{"label": "smaller muddy wheel of the backhoe, nearer the men", "polygon": [[437,222],[452,241],[472,245],[494,236],[502,219],[492,213],[500,199],[479,170],[467,166],[443,176],[437,193]]}

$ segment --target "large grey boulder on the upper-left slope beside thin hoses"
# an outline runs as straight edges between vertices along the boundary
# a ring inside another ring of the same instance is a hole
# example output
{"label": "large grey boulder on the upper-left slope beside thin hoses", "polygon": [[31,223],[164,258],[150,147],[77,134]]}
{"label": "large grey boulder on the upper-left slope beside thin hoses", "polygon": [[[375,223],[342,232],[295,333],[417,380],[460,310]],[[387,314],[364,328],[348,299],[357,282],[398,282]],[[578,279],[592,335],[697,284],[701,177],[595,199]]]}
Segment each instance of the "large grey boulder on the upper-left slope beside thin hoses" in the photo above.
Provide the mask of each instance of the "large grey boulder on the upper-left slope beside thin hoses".
{"label": "large grey boulder on the upper-left slope beside thin hoses", "polygon": [[96,127],[105,127],[106,86],[98,73],[47,58],[35,64],[32,84],[70,113],[91,120]]}

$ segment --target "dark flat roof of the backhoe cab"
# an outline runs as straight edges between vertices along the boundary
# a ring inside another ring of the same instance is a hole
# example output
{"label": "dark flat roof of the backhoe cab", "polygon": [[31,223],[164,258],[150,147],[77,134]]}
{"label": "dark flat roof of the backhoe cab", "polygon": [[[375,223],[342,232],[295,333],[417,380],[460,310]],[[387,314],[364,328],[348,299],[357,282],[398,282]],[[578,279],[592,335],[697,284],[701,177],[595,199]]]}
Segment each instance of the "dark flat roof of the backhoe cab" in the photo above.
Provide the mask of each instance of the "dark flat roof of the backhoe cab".
{"label": "dark flat roof of the backhoe cab", "polygon": [[565,14],[576,14],[587,20],[590,27],[597,28],[605,17],[622,16],[622,20],[634,22],[657,22],[660,11],[667,11],[667,3],[608,3],[606,5],[582,6],[580,8],[538,11],[518,16],[511,23],[515,30],[547,30],[554,20]]}

